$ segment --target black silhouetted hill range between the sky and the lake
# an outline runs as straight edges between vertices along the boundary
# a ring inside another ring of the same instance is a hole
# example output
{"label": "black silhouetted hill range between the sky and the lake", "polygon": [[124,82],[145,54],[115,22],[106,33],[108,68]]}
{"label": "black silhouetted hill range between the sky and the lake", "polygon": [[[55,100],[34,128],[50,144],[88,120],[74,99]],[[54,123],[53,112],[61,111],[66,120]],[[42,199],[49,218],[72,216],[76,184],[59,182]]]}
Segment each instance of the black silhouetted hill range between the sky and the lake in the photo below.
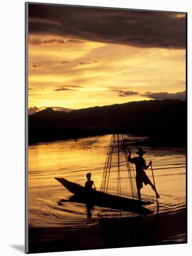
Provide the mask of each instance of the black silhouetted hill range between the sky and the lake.
{"label": "black silhouetted hill range between the sky and the lake", "polygon": [[46,108],[29,115],[29,143],[115,131],[149,137],[151,145],[186,145],[186,101],[133,101],[70,112]]}

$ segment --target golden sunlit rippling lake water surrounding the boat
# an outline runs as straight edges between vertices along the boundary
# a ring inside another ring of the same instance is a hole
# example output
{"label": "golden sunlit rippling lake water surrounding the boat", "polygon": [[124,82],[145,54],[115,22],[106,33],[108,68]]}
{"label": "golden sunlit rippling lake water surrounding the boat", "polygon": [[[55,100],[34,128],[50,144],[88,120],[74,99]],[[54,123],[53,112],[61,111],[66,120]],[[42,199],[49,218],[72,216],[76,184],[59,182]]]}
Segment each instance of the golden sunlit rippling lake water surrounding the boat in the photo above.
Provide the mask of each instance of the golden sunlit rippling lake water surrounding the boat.
{"label": "golden sunlit rippling lake water surrounding the boat", "polygon": [[[103,135],[77,141],[57,141],[29,146],[29,228],[65,227],[68,230],[81,230],[85,227],[99,226],[97,214],[106,209],[94,206],[92,218],[88,219],[85,205],[67,202],[72,194],[54,178],[64,177],[84,186],[86,174],[91,172],[96,188],[100,190],[110,138],[111,135]],[[128,136],[128,139],[133,140],[134,137]],[[136,156],[137,149],[138,147],[131,146],[132,156]],[[186,208],[185,149],[143,149],[147,151],[144,155],[146,162],[150,159],[153,162],[155,184],[160,194],[160,214],[171,215],[181,212]],[[150,168],[146,173],[152,180]],[[126,195],[124,190],[122,192]],[[111,192],[115,194],[115,191]],[[149,185],[141,189],[141,195],[154,202],[147,207],[155,213],[155,195]],[[113,210],[110,213],[118,214]],[[128,212],[124,214],[130,215]],[[175,237],[176,242],[185,239],[186,234],[183,230]]]}

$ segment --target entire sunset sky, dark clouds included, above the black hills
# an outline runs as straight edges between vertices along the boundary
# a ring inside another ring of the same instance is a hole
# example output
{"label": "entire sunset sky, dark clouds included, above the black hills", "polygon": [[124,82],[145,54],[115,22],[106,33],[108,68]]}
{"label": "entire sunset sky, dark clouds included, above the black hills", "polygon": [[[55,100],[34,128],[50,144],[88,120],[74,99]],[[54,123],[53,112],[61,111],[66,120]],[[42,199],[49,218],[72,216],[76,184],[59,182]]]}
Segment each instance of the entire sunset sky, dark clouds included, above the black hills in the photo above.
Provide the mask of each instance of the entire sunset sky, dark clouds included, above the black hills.
{"label": "entire sunset sky, dark clouds included, above the black hills", "polygon": [[185,100],[185,14],[29,4],[28,46],[31,114]]}

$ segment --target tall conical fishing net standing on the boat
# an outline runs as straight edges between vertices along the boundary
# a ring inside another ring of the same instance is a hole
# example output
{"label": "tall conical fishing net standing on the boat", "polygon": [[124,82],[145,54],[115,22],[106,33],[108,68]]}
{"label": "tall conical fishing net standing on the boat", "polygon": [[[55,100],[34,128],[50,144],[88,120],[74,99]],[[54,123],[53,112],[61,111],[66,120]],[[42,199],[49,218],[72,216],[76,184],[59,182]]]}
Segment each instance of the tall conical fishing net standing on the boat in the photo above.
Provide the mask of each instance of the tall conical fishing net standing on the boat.
{"label": "tall conical fishing net standing on the boat", "polygon": [[138,199],[134,166],[128,162],[128,146],[123,134],[111,137],[102,175],[101,191]]}

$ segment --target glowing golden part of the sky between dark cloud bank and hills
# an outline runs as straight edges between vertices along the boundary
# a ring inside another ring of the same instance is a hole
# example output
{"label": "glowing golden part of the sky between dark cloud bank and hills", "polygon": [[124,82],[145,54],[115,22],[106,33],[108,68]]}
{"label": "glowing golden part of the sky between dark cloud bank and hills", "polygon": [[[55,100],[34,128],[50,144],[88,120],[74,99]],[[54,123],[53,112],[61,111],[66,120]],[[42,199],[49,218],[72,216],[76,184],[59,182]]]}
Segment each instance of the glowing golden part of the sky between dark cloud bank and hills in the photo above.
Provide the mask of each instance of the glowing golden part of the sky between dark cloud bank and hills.
{"label": "glowing golden part of the sky between dark cloud bank and hills", "polygon": [[[182,17],[179,14],[177,19]],[[38,19],[32,17],[31,22],[59,26],[57,20]],[[79,109],[160,97],[183,99],[184,47],[138,47],[88,38],[29,31],[29,108]]]}

